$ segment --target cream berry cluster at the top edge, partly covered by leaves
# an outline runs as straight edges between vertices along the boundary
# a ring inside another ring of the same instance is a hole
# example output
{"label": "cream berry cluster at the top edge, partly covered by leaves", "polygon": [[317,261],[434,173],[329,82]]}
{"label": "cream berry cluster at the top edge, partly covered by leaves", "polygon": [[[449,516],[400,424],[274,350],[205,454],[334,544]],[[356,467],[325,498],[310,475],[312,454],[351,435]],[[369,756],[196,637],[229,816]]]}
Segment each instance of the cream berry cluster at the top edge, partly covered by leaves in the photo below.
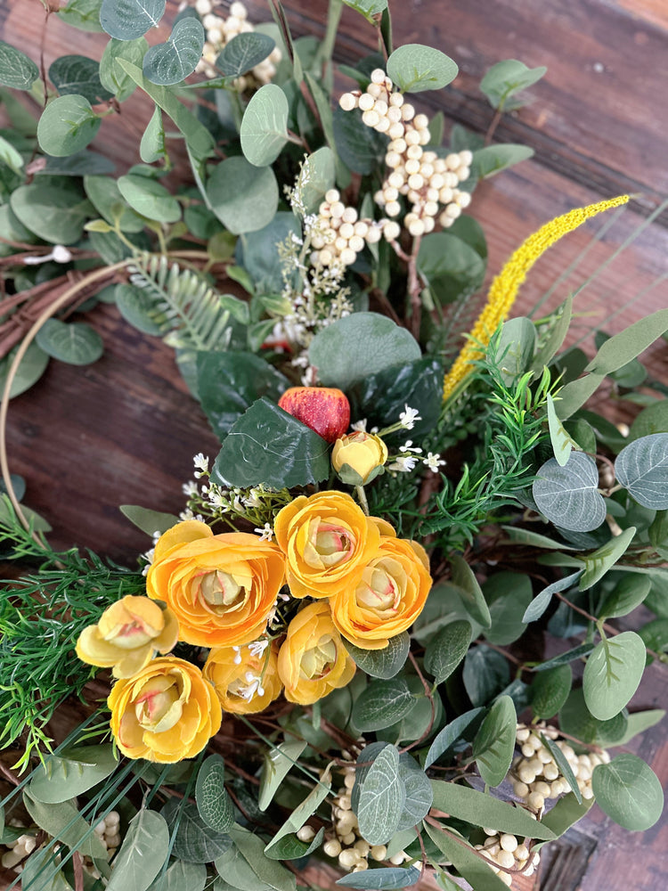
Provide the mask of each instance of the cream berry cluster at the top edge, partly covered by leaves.
{"label": "cream berry cluster at the top edge, partly covered by leaves", "polygon": [[[198,62],[197,71],[206,74],[208,78],[216,76],[216,59],[224,45],[229,44],[232,37],[238,34],[246,34],[253,30],[248,21],[248,11],[244,4],[235,0],[230,6],[230,14],[226,19],[213,12],[214,0],[196,0],[195,10],[201,16],[202,25],[206,32],[206,40],[202,51],[202,58]],[[234,81],[240,92],[255,86],[268,84],[276,73],[276,65],[281,61],[281,50],[275,46],[269,56],[255,66],[248,74],[242,75]]]}

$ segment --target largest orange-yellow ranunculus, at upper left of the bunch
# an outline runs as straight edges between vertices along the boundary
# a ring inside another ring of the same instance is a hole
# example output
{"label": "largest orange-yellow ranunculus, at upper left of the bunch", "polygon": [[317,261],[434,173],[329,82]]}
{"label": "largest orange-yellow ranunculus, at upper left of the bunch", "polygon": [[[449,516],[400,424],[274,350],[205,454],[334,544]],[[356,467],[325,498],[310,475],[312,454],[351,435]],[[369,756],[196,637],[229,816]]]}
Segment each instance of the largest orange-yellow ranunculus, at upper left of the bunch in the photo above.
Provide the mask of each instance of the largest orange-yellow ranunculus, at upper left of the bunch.
{"label": "largest orange-yellow ranunculus, at upper left of the bunch", "polygon": [[242,532],[214,535],[205,523],[188,520],[159,538],[146,590],[174,610],[179,640],[231,647],[265,631],[283,580],[275,544]]}

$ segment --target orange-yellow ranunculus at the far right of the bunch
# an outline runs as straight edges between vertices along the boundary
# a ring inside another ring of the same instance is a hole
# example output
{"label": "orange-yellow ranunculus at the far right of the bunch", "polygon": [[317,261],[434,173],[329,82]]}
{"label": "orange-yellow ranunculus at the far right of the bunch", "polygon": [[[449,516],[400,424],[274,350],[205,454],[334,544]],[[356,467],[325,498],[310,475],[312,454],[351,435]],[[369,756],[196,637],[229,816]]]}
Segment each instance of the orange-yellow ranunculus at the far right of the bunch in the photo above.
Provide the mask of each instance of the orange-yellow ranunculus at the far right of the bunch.
{"label": "orange-yellow ranunculus at the far right of the bunch", "polygon": [[330,599],[334,624],[354,646],[382,650],[420,616],[430,588],[421,545],[384,535],[366,566]]}

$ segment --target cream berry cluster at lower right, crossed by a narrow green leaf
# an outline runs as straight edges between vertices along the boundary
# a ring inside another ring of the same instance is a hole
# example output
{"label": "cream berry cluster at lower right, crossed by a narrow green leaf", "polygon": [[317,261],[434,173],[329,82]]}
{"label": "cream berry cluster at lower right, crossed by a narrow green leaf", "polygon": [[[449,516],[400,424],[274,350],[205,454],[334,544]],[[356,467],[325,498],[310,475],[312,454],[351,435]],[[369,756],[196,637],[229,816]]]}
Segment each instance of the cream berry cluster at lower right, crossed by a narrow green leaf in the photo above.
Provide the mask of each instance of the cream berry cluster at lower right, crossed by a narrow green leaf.
{"label": "cream berry cluster at lower right, crossed by a narrow green leaf", "polygon": [[544,724],[537,724],[532,728],[517,724],[517,745],[522,751],[513,762],[512,768],[513,790],[517,797],[522,798],[534,811],[541,811],[547,798],[556,798],[571,790],[550,750],[543,745],[541,733],[549,740],[554,740],[561,750],[574,773],[582,797],[593,798],[591,772],[597,764],[607,764],[610,756],[607,752],[599,755],[576,755],[574,748],[566,740],[558,739],[558,731]]}

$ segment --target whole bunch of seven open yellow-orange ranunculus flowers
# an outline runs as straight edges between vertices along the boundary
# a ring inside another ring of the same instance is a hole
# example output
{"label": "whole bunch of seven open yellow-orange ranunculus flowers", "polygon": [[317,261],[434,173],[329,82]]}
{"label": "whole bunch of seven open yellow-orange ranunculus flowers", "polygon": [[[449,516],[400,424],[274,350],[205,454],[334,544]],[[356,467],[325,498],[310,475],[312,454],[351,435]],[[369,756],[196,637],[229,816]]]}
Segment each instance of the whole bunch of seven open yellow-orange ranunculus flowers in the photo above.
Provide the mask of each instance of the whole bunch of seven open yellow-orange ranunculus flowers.
{"label": "whole bunch of seven open yellow-orange ranunculus flowers", "polygon": [[[78,657],[118,678],[108,704],[124,755],[172,763],[197,755],[223,712],[262,711],[281,692],[310,705],[353,678],[346,642],[382,649],[420,615],[431,586],[426,553],[350,495],[296,498],[274,534],[275,543],[178,523],[156,544],[149,596],[112,604],[81,634]],[[274,631],[290,601],[286,580],[292,598],[311,600]],[[155,658],[177,641],[211,648],[203,669]]]}

